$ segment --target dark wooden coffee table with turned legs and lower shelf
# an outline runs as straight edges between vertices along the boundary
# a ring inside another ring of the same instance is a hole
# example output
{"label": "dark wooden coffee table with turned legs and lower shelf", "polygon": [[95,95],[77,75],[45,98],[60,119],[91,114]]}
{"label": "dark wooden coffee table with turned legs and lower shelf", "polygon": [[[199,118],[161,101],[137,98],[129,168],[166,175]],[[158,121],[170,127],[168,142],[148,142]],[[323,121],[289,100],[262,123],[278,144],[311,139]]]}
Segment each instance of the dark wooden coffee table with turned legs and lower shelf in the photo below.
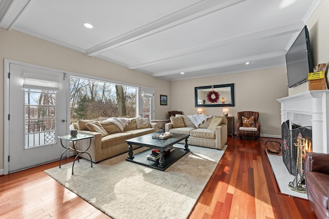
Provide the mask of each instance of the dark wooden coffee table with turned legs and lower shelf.
{"label": "dark wooden coffee table with turned legs and lower shelf", "polygon": [[[164,171],[168,167],[170,167],[172,164],[174,164],[176,161],[178,161],[182,156],[187,154],[190,149],[189,145],[187,144],[187,139],[190,135],[188,134],[172,134],[172,137],[169,137],[167,139],[161,140],[152,138],[152,135],[157,134],[157,132],[152,134],[146,134],[139,137],[134,137],[129,140],[126,140],[126,142],[129,145],[129,153],[128,157],[125,159],[126,161],[133,162],[136,164],[140,164],[143,166],[151,167],[157,170]],[[172,152],[170,152],[168,155],[165,154],[166,148],[185,140],[185,148],[175,148]],[[133,152],[133,145],[138,145],[142,147],[148,147],[151,148],[150,150],[146,150],[140,153],[137,153],[134,155]],[[152,153],[152,149],[158,149],[160,151],[160,158],[158,161],[151,161],[148,160],[147,156]]]}

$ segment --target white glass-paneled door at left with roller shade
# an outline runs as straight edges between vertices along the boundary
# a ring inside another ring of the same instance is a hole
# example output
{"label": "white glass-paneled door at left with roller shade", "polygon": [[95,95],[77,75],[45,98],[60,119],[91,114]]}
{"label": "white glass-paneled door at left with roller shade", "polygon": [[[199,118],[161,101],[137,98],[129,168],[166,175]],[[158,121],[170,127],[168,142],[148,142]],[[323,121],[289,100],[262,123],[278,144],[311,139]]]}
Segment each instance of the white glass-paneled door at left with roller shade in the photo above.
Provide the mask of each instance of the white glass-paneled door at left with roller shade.
{"label": "white glass-paneled door at left with roller shade", "polygon": [[58,160],[66,125],[64,73],[10,64],[9,172]]}

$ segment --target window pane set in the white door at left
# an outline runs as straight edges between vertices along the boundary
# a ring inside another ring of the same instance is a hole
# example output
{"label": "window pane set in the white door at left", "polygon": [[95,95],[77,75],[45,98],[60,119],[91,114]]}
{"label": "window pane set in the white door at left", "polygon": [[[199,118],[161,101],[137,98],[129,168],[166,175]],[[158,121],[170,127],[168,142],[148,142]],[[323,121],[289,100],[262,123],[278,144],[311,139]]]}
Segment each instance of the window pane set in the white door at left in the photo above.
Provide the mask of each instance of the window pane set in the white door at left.
{"label": "window pane set in the white door at left", "polygon": [[56,91],[24,92],[25,148],[56,143]]}

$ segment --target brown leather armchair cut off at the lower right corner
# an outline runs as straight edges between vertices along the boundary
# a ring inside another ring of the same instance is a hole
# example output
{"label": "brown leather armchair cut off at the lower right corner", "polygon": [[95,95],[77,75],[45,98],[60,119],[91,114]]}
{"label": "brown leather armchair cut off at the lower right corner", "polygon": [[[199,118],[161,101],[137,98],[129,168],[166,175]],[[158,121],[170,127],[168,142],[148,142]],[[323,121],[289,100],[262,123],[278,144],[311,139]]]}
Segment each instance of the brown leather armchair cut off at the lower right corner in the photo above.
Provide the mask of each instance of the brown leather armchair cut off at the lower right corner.
{"label": "brown leather armchair cut off at the lower right corner", "polygon": [[329,218],[329,154],[307,153],[304,167],[309,204],[318,218]]}

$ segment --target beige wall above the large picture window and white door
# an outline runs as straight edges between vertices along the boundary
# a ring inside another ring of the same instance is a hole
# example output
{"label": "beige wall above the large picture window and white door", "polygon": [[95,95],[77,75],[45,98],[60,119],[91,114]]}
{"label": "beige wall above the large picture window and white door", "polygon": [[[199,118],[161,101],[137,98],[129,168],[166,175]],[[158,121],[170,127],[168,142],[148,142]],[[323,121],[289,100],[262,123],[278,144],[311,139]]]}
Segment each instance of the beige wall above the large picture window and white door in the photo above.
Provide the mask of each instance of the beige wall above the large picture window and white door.
{"label": "beige wall above the large picture window and white door", "polygon": [[[4,75],[5,58],[63,71],[107,78],[117,82],[151,87],[155,89],[155,117],[166,118],[170,109],[170,105],[160,106],[160,94],[169,95],[169,81],[136,70],[129,70],[126,67],[100,58],[88,57],[81,52],[15,30],[8,31],[0,28],[0,71],[2,75]],[[0,124],[4,124],[4,76],[0,77],[0,84],[2,87],[0,95]],[[0,126],[0,172],[4,167],[3,158],[4,127],[2,125]]]}

